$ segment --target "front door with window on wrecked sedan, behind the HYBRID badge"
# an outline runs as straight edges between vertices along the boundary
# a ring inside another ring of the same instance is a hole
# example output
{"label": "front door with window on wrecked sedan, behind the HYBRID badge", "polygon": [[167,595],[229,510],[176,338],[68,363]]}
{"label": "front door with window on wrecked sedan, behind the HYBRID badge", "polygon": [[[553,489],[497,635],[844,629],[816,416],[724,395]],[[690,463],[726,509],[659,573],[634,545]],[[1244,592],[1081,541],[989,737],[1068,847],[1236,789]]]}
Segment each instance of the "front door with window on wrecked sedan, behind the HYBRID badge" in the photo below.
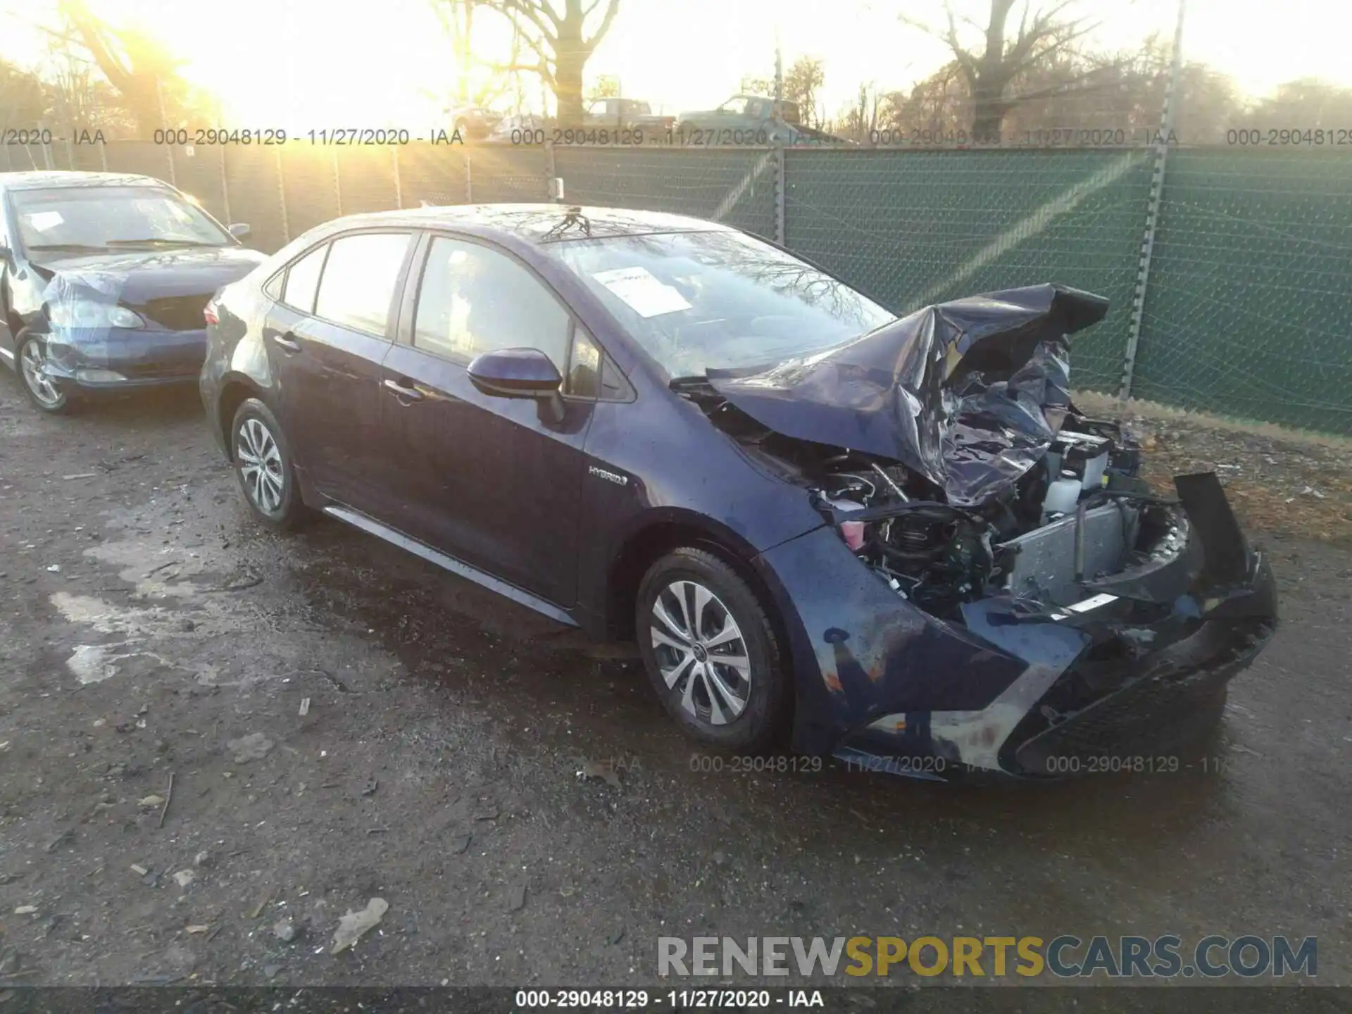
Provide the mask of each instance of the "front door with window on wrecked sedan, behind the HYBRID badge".
{"label": "front door with window on wrecked sedan, behind the HYBRID badge", "polygon": [[[569,357],[575,335],[585,335],[553,289],[499,247],[434,235],[420,260],[407,324],[381,370],[397,527],[568,607],[595,404]],[[493,397],[470,383],[475,356],[510,347],[545,352],[568,377],[561,422],[534,400]]]}

